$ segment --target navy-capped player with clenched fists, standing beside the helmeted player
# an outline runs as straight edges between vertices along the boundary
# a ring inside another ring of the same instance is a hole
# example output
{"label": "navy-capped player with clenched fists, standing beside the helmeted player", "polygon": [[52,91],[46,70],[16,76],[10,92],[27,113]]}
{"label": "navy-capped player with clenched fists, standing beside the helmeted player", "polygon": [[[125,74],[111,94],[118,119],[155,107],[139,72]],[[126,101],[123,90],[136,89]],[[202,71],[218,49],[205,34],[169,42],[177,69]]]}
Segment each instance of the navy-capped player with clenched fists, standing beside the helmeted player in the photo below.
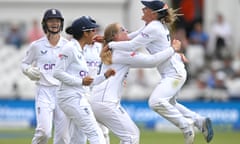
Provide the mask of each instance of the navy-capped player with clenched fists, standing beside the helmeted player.
{"label": "navy-capped player with clenched fists, standing beside the helmeted player", "polygon": [[[97,27],[86,16],[73,21],[66,29],[66,33],[73,38],[63,47],[53,75],[61,81],[58,103],[70,123],[87,136],[90,144],[105,144],[103,133],[86,98],[89,95],[87,86],[99,84],[115,74],[115,70],[107,69],[94,78],[89,75],[83,48],[92,43]],[[70,144],[79,144],[78,139],[71,136]]]}

